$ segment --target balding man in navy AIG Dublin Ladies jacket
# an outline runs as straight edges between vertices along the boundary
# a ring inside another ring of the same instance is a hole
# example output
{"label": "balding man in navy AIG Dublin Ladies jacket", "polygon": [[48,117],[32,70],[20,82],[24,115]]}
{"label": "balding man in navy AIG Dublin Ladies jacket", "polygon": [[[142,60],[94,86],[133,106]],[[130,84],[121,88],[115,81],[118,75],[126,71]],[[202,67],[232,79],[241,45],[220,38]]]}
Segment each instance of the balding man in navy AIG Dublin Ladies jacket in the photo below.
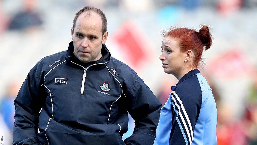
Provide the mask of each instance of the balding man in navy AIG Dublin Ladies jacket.
{"label": "balding man in navy AIG Dublin Ladies jacket", "polygon": [[[153,144],[161,104],[130,67],[111,57],[106,23],[101,10],[84,7],[68,50],[32,68],[14,100],[13,144]],[[128,112],[135,130],[123,142]]]}

